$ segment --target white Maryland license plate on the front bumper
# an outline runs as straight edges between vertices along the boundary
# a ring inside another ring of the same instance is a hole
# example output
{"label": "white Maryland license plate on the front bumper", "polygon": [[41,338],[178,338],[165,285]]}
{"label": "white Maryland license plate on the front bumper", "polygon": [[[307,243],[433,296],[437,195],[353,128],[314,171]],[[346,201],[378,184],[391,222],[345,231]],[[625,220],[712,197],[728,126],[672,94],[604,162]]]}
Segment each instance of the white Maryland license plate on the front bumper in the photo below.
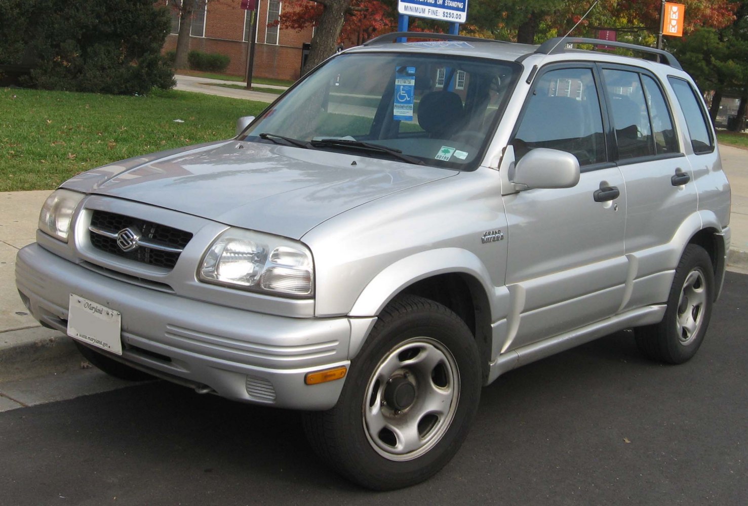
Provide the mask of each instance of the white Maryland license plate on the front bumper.
{"label": "white Maryland license plate on the front bumper", "polygon": [[67,335],[102,348],[110,353],[122,354],[120,337],[122,315],[93,300],[70,294],[67,315]]}

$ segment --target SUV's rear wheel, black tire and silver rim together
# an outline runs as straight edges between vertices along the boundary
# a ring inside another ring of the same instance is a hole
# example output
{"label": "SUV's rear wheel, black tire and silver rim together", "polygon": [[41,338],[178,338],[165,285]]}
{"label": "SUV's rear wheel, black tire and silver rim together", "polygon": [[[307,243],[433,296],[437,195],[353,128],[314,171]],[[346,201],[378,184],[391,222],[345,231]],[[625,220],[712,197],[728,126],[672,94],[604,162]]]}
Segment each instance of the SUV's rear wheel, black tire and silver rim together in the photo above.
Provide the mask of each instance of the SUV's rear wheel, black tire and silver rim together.
{"label": "SUV's rear wheel, black tire and silver rim together", "polygon": [[681,364],[704,341],[714,300],[714,271],[704,248],[689,244],[678,267],[659,324],[634,329],[637,347],[652,360]]}

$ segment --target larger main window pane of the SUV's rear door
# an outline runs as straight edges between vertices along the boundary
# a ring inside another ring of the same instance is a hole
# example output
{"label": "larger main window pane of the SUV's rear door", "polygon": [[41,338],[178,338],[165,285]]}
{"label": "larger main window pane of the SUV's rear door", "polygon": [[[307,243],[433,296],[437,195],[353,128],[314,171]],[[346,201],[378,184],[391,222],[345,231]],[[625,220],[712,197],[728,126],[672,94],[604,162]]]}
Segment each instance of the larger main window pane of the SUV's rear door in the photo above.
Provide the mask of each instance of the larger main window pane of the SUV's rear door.
{"label": "larger main window pane of the SUV's rear door", "polygon": [[603,78],[616,131],[618,158],[653,156],[652,126],[639,73],[604,69]]}

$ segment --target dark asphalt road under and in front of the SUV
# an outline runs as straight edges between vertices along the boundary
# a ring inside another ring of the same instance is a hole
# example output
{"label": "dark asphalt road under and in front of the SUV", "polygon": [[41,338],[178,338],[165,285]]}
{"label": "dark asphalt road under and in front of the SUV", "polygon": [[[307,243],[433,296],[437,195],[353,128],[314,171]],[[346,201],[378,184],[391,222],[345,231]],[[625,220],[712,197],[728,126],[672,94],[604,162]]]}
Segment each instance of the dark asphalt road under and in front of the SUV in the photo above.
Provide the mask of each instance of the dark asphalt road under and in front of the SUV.
{"label": "dark asphalt road under and in front of the SUV", "polygon": [[0,413],[0,505],[746,505],[748,275],[701,351],[643,360],[617,333],[483,390],[456,458],[391,493],[310,451],[297,413],[155,382]]}

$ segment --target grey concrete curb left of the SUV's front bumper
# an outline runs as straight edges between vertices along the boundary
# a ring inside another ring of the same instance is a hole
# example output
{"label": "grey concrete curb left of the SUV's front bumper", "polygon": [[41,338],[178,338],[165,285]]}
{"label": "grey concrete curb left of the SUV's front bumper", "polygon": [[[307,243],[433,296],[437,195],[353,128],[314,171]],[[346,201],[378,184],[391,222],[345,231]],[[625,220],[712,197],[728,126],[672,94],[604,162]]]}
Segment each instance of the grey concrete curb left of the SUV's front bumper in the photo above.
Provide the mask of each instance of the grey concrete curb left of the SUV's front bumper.
{"label": "grey concrete curb left of the SUV's front bumper", "polygon": [[58,330],[31,327],[0,333],[0,382],[37,377],[80,365],[73,339]]}

